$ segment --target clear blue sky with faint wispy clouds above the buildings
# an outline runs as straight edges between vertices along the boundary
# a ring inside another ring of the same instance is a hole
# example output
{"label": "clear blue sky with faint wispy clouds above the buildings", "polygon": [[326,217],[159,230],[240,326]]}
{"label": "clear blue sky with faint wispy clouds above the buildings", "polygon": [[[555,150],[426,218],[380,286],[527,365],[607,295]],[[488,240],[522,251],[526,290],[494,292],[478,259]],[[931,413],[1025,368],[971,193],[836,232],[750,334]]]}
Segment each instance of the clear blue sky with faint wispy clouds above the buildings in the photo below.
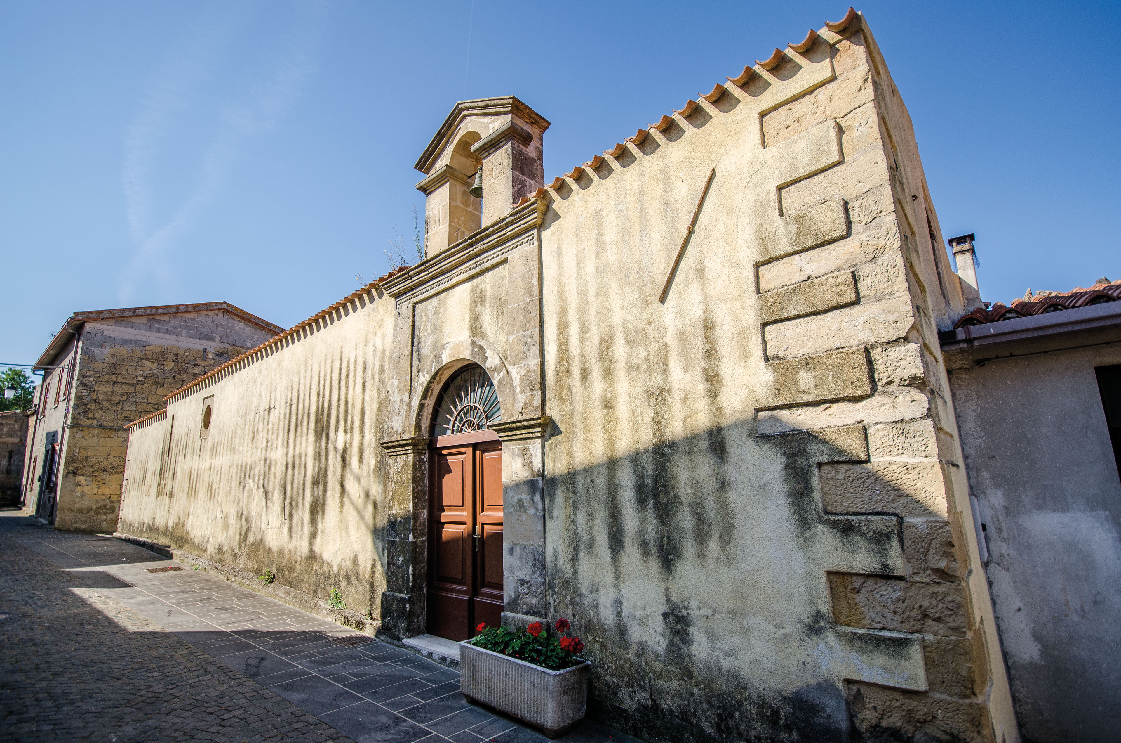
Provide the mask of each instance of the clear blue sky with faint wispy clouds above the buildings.
{"label": "clear blue sky with faint wispy clouds above the buildings", "polygon": [[[833,2],[0,2],[0,361],[70,313],[289,327],[387,269],[453,103],[553,123],[546,177],[840,19]],[[869,2],[982,294],[1121,278],[1121,3]]]}

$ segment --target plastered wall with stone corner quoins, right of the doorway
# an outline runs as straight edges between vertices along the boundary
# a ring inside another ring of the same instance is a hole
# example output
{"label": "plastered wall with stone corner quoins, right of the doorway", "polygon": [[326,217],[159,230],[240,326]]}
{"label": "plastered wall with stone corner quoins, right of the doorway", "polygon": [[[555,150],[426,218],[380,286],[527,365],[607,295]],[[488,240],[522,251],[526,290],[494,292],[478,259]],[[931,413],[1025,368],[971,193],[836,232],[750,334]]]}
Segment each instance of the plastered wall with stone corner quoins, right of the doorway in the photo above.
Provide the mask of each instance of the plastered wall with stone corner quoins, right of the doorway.
{"label": "plastered wall with stone corner quoins, right of the doorway", "polygon": [[991,740],[938,443],[962,300],[870,35],[821,36],[552,195],[550,615],[651,740]]}

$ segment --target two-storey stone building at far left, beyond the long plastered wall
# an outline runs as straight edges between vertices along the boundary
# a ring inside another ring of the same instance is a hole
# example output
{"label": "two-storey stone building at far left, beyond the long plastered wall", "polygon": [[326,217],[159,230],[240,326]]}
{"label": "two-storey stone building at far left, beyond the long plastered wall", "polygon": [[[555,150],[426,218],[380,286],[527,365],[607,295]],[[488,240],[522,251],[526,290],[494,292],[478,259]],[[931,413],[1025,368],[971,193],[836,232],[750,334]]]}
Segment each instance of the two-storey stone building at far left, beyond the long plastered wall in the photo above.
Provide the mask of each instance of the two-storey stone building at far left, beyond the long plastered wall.
{"label": "two-storey stone building at far left, beyond the long plastered wall", "polygon": [[25,507],[58,529],[112,532],[128,432],[164,396],[281,328],[226,302],[75,312],[36,363]]}

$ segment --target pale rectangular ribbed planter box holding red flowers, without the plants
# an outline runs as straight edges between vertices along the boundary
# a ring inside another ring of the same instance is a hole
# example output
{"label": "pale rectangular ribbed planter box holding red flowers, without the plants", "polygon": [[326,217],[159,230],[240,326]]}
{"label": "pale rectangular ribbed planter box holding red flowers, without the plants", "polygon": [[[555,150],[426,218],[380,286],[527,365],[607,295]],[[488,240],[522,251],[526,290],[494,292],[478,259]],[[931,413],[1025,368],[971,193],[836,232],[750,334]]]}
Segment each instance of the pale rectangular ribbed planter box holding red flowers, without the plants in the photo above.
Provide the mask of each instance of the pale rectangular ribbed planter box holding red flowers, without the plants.
{"label": "pale rectangular ribbed planter box holding red flowers, without the plants", "polygon": [[549,737],[564,735],[584,719],[587,663],[550,671],[501,653],[460,643],[463,696],[529,723]]}

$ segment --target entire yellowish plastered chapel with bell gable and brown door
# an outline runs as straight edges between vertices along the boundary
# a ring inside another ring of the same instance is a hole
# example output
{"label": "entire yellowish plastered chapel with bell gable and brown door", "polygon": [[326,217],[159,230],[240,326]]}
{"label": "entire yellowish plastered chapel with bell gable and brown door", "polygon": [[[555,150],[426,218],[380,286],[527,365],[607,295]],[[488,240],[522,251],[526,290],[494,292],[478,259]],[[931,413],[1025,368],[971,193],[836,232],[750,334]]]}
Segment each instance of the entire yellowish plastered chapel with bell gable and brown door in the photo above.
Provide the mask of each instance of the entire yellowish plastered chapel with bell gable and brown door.
{"label": "entire yellowish plastered chapel with bell gable and brown door", "polygon": [[1019,740],[938,346],[976,278],[864,20],[544,187],[548,126],[457,103],[426,259],[135,422],[122,535],[402,640],[568,617],[650,741]]}

